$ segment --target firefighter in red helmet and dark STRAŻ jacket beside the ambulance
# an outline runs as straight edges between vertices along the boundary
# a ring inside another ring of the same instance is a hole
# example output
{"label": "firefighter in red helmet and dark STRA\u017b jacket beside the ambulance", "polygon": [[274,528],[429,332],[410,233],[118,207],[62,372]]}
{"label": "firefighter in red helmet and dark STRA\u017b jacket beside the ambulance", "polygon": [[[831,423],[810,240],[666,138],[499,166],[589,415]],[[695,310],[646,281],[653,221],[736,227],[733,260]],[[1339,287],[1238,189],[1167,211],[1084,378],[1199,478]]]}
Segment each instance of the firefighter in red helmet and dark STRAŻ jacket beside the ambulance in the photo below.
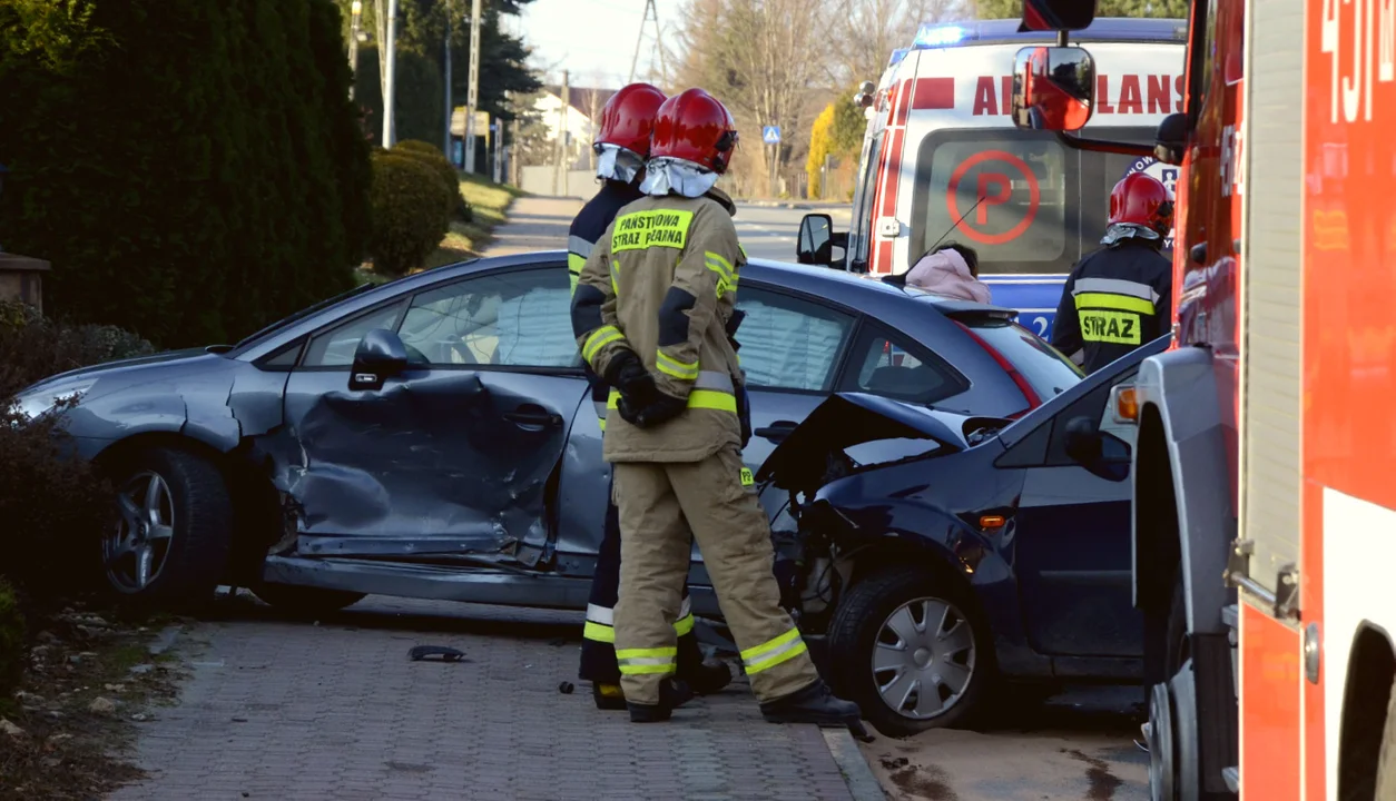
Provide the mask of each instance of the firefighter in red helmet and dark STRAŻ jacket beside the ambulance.
{"label": "firefighter in red helmet and dark STRA\u017b jacket beside the ambulance", "polygon": [[1173,264],[1159,248],[1173,230],[1173,200],[1145,173],[1110,193],[1104,247],[1076,262],[1062,289],[1051,343],[1087,374],[1168,334]]}

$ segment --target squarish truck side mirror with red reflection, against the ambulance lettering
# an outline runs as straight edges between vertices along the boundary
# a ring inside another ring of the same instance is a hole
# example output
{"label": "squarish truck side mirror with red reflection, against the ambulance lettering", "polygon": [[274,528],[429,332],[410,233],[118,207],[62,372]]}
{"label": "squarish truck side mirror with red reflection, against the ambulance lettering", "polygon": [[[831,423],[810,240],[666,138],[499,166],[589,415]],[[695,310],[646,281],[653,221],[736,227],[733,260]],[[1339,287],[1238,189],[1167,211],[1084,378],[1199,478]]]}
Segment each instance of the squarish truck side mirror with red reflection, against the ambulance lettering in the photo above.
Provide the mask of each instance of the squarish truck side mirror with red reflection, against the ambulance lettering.
{"label": "squarish truck side mirror with red reflection, against the ambulance lettering", "polygon": [[1039,45],[1018,52],[1013,124],[1034,131],[1079,131],[1096,105],[1096,61],[1082,47]]}

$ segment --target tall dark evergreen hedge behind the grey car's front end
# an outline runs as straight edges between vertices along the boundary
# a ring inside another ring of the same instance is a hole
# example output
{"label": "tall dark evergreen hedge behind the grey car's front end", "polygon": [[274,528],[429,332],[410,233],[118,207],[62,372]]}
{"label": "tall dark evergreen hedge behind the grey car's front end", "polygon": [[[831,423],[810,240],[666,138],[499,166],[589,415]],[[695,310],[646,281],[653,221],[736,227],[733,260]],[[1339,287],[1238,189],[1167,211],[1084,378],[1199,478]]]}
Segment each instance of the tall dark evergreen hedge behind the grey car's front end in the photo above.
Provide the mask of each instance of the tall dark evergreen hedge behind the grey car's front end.
{"label": "tall dark evergreen hedge behind the grey car's front end", "polygon": [[352,286],[370,172],[334,1],[87,4],[103,46],[10,54],[0,98],[0,244],[53,262],[50,311],[173,347]]}

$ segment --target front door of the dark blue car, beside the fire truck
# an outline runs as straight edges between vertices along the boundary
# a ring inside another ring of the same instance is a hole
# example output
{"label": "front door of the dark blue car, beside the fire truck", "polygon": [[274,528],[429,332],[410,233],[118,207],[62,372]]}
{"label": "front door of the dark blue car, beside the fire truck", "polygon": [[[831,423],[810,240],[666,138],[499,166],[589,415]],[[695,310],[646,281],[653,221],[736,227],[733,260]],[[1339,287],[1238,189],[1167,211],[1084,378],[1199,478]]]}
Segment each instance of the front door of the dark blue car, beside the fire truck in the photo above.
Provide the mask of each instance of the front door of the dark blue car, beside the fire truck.
{"label": "front door of the dark blue car, beside the fire truck", "polygon": [[[1111,387],[1132,382],[1136,374],[1135,366],[1099,384],[1020,442],[1025,448],[1044,445],[1044,456],[1023,470],[1015,515],[1023,621],[1039,653],[1142,654],[1143,620],[1129,589],[1129,455],[1135,428],[1114,424],[1107,409]],[[1081,417],[1103,433],[1094,470],[1068,454],[1068,426]]]}

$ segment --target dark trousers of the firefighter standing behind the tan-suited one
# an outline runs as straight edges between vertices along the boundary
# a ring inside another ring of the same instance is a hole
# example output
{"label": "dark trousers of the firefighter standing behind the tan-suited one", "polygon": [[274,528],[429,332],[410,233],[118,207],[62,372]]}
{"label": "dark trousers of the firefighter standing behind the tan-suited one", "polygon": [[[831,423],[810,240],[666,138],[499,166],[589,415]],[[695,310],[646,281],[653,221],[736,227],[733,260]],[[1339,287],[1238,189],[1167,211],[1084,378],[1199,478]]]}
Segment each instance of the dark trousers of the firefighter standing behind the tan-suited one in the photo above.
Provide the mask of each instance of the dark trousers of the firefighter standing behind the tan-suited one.
{"label": "dark trousers of the firefighter standing behind the tan-suited one", "polygon": [[[620,514],[616,509],[614,481],[607,487],[606,529],[602,547],[596,554],[596,574],[592,576],[592,592],[586,599],[586,627],[582,629],[582,664],[578,677],[592,684],[620,684],[620,667],[616,664],[616,596],[620,592]],[[684,536],[688,526],[684,523]],[[691,539],[690,539],[691,543]],[[688,546],[692,547],[691,544]],[[687,560],[685,567],[687,572]],[[678,678],[702,664],[702,649],[694,634],[694,615],[688,601],[687,576],[680,601],[678,620],[674,621],[674,635],[678,638]]]}

